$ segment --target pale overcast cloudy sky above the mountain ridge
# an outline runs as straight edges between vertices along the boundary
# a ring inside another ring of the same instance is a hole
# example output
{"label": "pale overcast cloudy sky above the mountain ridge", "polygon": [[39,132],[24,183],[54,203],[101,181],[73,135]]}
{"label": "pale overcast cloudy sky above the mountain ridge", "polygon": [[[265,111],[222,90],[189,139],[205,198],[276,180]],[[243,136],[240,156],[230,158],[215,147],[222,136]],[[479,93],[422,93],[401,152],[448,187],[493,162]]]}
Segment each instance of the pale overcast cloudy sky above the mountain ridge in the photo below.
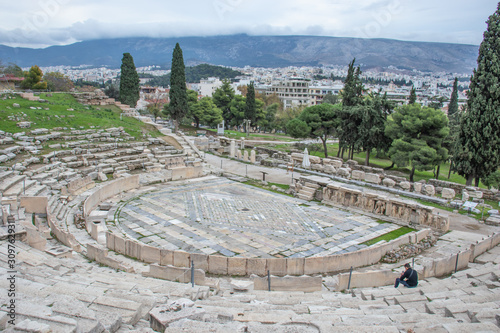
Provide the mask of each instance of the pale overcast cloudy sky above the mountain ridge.
{"label": "pale overcast cloudy sky above the mountain ridge", "polygon": [[46,47],[115,37],[247,33],[479,45],[492,0],[2,1],[0,44]]}

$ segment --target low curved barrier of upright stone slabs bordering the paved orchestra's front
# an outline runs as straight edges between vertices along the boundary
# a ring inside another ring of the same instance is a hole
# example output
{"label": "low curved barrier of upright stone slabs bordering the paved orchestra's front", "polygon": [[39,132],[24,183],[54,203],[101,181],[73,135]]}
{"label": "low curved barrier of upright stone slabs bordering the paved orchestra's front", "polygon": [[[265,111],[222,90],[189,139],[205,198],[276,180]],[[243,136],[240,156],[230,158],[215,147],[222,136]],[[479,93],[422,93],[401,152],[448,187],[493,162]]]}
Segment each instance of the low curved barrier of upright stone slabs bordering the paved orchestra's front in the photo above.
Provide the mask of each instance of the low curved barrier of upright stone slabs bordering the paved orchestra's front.
{"label": "low curved barrier of upright stone slabs bordering the paved orchestra's front", "polygon": [[387,252],[398,249],[404,244],[416,243],[429,233],[429,229],[420,230],[362,250],[309,258],[240,258],[172,251],[124,239],[110,231],[106,232],[106,246],[120,254],[148,263],[158,263],[160,266],[186,268],[191,267],[193,263],[195,268],[215,275],[265,276],[269,271],[275,276],[301,276],[335,273],[348,270],[351,266],[356,268],[373,265]]}

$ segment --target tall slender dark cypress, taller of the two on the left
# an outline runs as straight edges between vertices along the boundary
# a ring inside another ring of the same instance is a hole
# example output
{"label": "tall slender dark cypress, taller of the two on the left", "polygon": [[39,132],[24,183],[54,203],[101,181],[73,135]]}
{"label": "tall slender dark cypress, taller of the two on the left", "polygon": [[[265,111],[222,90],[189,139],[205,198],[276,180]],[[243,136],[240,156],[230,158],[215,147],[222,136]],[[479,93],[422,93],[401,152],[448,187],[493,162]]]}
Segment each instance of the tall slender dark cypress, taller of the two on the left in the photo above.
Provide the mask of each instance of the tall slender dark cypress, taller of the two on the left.
{"label": "tall slender dark cypress, taller of the two on the left", "polygon": [[175,44],[172,54],[172,70],[170,74],[170,104],[166,107],[166,111],[174,121],[175,131],[177,132],[179,123],[188,112],[186,72],[179,43]]}

